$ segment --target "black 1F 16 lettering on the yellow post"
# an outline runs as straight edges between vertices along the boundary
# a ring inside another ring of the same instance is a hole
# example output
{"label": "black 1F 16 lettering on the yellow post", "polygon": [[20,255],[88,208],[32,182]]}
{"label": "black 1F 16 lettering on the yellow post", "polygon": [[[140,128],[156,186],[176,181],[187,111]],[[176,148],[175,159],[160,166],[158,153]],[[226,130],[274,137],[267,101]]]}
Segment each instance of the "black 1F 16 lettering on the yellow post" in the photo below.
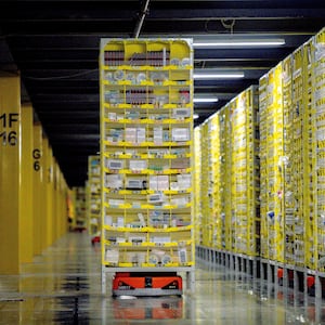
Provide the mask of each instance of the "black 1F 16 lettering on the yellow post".
{"label": "black 1F 16 lettering on the yellow post", "polygon": [[15,131],[16,123],[20,120],[18,113],[8,113],[0,116],[0,143],[2,145],[15,146],[18,142],[17,132]]}

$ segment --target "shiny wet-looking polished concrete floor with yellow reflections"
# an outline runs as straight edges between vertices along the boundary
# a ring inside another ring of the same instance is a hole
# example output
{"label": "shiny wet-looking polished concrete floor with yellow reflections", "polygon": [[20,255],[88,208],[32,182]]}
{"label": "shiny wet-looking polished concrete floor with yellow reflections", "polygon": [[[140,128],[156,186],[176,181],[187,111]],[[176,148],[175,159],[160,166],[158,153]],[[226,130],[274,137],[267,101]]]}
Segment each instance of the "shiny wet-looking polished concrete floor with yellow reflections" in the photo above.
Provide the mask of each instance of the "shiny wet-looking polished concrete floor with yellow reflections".
{"label": "shiny wet-looking polished concrete floor with yellow reflections", "polygon": [[0,276],[0,324],[325,324],[325,301],[200,261],[182,297],[103,296],[100,270],[100,247],[67,234],[22,275]]}

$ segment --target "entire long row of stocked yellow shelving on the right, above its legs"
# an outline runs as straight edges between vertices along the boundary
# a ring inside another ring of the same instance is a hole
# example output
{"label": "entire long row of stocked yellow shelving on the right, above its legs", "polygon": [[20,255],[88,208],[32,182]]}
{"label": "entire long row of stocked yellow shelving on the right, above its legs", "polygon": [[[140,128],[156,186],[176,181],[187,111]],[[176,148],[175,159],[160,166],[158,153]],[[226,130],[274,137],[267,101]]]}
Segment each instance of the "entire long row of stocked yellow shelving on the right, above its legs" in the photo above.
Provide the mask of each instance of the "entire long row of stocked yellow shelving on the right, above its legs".
{"label": "entire long row of stocked yellow shelving on the right, above its legs", "polygon": [[244,92],[199,127],[200,164],[217,157],[200,183],[210,184],[216,213],[204,199],[203,211],[221,238],[202,247],[325,273],[324,80],[323,29],[260,78],[259,105],[247,94],[240,104]]}

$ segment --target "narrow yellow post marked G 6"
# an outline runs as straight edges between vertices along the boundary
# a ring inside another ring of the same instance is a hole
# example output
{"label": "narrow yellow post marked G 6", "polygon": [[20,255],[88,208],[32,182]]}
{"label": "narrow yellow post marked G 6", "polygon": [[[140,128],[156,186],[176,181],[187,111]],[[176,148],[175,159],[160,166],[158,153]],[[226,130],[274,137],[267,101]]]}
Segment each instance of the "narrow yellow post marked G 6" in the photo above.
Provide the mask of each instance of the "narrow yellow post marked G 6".
{"label": "narrow yellow post marked G 6", "polygon": [[34,255],[40,255],[42,251],[42,182],[43,182],[43,168],[42,168],[42,127],[40,122],[34,123],[34,147],[32,147],[32,250]]}

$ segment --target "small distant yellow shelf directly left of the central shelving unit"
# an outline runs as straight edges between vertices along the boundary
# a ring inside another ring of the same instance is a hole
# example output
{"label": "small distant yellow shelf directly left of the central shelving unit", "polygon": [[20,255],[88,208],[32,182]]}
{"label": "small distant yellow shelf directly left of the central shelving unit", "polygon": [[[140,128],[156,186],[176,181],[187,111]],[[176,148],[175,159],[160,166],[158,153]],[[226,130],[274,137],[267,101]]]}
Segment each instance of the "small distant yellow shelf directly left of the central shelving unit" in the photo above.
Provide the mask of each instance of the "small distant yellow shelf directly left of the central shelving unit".
{"label": "small distant yellow shelf directly left of the central shelving unit", "polygon": [[91,236],[100,233],[101,226],[101,165],[99,156],[88,157],[87,211],[88,232]]}

